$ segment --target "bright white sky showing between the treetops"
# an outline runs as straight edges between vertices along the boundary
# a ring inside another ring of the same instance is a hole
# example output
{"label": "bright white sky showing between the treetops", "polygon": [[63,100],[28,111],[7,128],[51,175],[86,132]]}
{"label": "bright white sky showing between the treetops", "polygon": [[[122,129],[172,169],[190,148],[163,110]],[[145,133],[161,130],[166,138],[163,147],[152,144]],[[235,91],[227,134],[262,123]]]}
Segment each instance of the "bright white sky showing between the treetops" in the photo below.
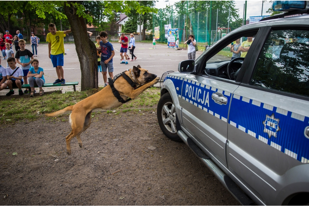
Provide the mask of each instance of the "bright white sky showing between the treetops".
{"label": "bright white sky showing between the treetops", "polygon": [[[165,8],[168,5],[174,5],[175,2],[179,2],[179,1],[159,1],[156,2],[156,8],[158,9],[162,9]],[[239,17],[243,18],[243,5],[244,5],[245,1],[235,1],[235,8],[239,9]],[[269,15],[268,13],[266,13],[266,11],[272,6],[272,3],[270,3],[269,1],[265,1],[264,5],[263,5],[263,15]],[[250,16],[260,16],[262,14],[262,1],[247,1],[247,19]]]}

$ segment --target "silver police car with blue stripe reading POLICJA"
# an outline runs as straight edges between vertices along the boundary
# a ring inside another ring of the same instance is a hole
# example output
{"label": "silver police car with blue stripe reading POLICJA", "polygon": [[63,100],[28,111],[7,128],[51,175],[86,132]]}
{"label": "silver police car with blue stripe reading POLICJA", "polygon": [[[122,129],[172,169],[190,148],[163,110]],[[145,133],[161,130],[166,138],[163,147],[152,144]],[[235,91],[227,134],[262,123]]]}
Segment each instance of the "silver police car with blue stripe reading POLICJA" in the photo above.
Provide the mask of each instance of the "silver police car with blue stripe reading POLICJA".
{"label": "silver police car with blue stripe reading POLICJA", "polygon": [[[309,1],[275,1],[273,10],[285,13],[180,62],[164,80],[157,117],[241,204],[308,205]],[[219,55],[239,38],[241,57]]]}

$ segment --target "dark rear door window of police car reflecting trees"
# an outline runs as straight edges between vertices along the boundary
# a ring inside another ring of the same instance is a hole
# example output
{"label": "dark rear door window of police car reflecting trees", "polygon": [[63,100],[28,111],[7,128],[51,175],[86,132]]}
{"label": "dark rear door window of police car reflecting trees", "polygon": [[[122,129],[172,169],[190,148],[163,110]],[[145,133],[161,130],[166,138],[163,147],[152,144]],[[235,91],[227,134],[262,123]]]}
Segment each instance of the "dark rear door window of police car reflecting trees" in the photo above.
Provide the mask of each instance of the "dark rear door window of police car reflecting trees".
{"label": "dark rear door window of police car reflecting trees", "polygon": [[250,84],[309,97],[309,31],[273,30]]}

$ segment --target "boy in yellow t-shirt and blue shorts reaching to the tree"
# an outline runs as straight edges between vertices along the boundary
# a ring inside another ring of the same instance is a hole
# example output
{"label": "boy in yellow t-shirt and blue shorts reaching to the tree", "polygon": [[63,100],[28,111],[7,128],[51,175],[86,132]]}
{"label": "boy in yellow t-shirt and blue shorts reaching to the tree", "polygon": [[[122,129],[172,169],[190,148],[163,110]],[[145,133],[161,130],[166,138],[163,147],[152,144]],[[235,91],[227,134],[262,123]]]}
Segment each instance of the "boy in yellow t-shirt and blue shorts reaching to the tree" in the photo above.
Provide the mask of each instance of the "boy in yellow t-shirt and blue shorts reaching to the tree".
{"label": "boy in yellow t-shirt and blue shorts reaching to the tree", "polygon": [[57,31],[56,26],[53,23],[48,25],[48,30],[50,33],[46,36],[46,41],[48,42],[48,56],[52,60],[53,67],[56,68],[56,73],[58,79],[53,84],[61,83],[61,85],[66,84],[63,72],[63,55],[64,55],[64,44],[63,37],[65,34],[70,33],[72,30]]}

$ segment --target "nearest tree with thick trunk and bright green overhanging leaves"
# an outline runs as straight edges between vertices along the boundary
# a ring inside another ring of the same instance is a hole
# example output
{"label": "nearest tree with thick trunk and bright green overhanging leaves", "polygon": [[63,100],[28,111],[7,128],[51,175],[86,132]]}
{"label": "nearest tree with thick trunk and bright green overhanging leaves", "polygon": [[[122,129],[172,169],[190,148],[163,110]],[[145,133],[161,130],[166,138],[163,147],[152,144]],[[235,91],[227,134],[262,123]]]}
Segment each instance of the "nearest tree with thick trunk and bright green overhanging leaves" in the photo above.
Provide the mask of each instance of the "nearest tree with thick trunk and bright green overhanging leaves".
{"label": "nearest tree with thick trunk and bright green overhanging leaves", "polygon": [[[80,62],[82,91],[98,87],[97,52],[94,43],[88,38],[86,26],[86,23],[93,22],[91,15],[102,14],[103,16],[108,16],[119,12],[138,12],[144,15],[150,12],[157,12],[157,9],[140,5],[137,1],[102,1],[100,3],[104,5],[104,10],[92,8],[98,2],[87,3],[91,7],[88,10],[78,1],[28,1],[25,2],[25,5],[22,5],[20,1],[0,2],[0,14],[3,17],[9,16],[8,20],[10,20],[13,14],[15,15],[18,12],[27,13],[28,11],[35,13],[41,19],[46,19],[46,21],[51,20],[47,20],[48,14],[53,15],[56,20],[67,19],[74,36],[76,52]],[[100,21],[102,21],[102,18]],[[31,25],[29,21],[29,28],[31,28]],[[59,30],[59,25],[57,25],[57,28]]]}

